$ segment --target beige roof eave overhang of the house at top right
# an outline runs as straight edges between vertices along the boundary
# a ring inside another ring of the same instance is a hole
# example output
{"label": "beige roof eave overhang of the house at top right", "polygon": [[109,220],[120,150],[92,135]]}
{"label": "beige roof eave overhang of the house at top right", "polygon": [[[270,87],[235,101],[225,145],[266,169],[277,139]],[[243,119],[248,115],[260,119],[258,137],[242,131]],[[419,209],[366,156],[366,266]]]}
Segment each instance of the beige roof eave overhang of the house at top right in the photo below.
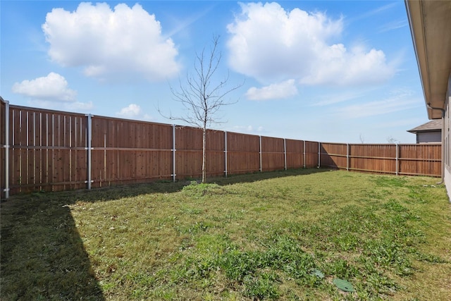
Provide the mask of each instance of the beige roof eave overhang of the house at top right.
{"label": "beige roof eave overhang of the house at top right", "polygon": [[[451,1],[404,0],[429,119],[442,118],[451,73]],[[431,104],[431,107],[428,106]]]}

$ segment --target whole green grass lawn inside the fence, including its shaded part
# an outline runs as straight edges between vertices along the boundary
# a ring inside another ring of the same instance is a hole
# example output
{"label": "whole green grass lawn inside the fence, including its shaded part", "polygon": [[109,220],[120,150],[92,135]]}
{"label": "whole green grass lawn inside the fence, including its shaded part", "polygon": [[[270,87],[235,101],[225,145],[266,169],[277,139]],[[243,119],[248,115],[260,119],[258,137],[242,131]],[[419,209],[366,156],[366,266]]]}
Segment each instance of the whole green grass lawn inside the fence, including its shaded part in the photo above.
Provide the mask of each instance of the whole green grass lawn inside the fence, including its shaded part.
{"label": "whole green grass lawn inside the fence, including its shaded part", "polygon": [[304,169],[1,204],[6,300],[449,300],[437,178]]}

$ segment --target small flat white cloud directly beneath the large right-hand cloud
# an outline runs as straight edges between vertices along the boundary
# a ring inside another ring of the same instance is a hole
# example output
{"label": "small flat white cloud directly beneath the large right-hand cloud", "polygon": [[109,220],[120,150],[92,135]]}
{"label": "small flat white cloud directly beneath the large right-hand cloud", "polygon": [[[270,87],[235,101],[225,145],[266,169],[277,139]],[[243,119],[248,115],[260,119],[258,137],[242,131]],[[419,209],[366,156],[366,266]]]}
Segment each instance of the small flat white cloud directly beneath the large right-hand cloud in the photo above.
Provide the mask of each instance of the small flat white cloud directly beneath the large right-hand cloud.
{"label": "small flat white cloud directly beneath the large right-hand cloud", "polygon": [[246,97],[250,100],[268,100],[288,98],[296,94],[295,80],[287,80],[261,88],[251,87],[247,90]]}

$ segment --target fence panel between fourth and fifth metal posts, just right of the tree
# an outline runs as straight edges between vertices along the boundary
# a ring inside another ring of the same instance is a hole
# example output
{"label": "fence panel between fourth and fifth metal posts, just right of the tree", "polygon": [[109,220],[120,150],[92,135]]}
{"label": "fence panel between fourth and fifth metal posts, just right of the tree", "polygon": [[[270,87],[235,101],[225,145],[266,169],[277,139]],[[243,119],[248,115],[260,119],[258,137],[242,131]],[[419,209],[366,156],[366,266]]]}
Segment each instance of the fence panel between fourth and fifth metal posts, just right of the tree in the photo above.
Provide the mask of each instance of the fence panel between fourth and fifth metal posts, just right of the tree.
{"label": "fence panel between fourth and fifth metal posts, just right of the tree", "polygon": [[253,173],[260,169],[260,137],[227,133],[228,173]]}

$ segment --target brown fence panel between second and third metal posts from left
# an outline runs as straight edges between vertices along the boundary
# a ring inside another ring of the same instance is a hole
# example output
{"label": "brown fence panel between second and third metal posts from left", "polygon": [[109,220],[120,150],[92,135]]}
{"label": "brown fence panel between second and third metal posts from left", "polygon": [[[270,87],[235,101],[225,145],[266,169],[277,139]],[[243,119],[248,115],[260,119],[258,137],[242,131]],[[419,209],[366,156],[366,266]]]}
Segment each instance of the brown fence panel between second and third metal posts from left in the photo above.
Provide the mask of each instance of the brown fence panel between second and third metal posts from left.
{"label": "brown fence panel between second and third metal posts from left", "polygon": [[92,117],[92,187],[171,178],[172,126]]}

